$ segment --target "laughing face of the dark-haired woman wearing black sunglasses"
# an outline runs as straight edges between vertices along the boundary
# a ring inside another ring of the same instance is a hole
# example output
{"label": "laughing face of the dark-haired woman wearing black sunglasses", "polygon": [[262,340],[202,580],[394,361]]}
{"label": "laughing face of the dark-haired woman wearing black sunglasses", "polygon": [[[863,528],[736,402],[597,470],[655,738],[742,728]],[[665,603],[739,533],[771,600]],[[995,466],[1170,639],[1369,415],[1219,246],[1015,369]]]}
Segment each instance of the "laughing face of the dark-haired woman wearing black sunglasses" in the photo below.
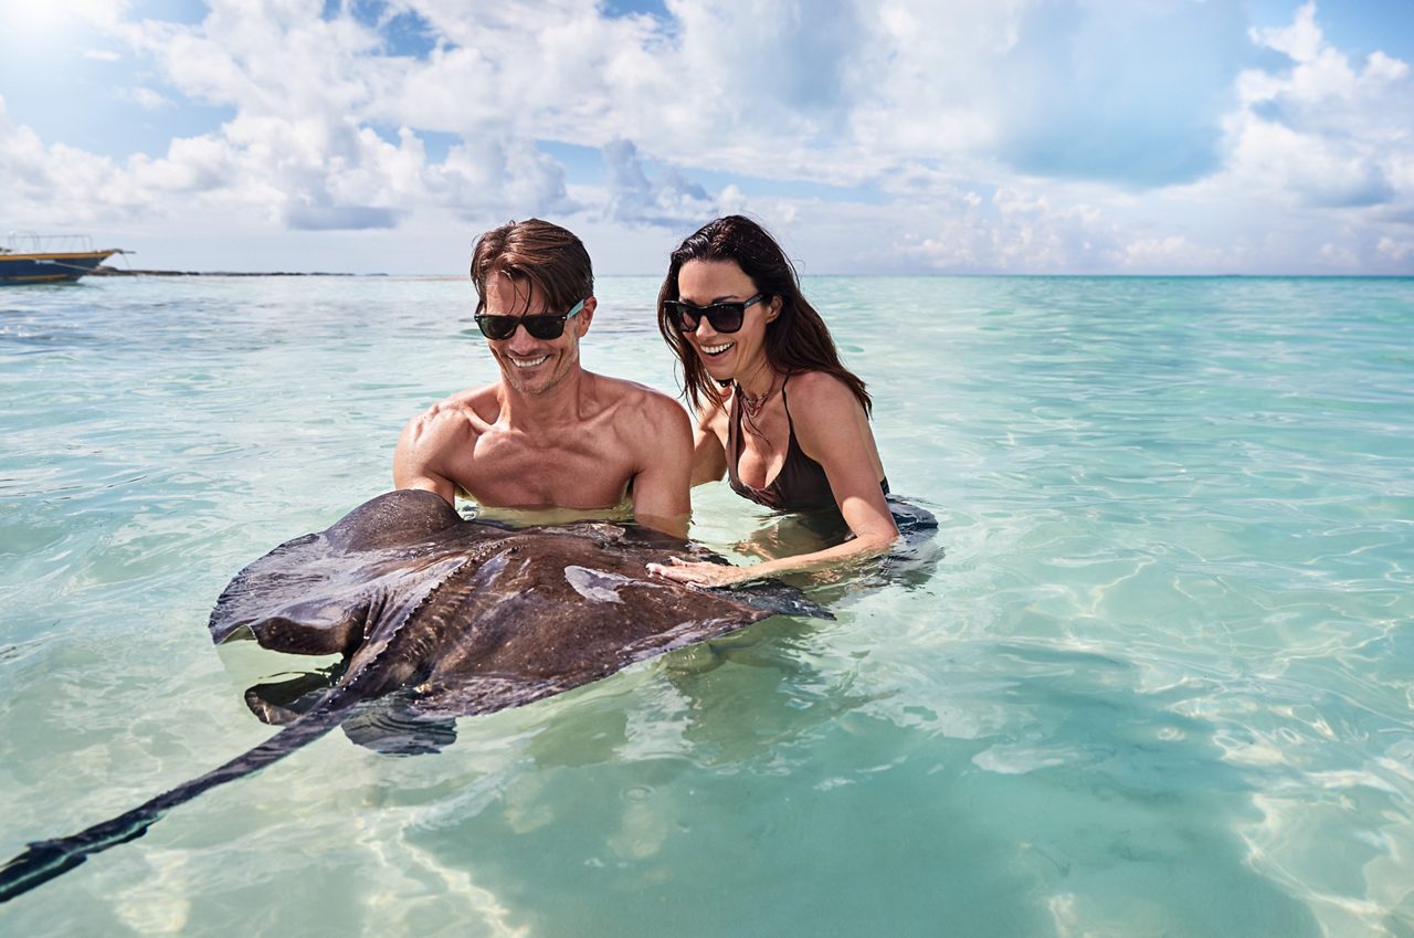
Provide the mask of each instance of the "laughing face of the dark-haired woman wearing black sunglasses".
{"label": "laughing face of the dark-haired woman wearing black sunglasses", "polygon": [[[735,260],[689,260],[677,272],[677,299],[690,306],[745,303],[756,293]],[[747,307],[735,332],[718,332],[703,315],[697,330],[683,335],[715,381],[747,379],[765,364],[766,323],[779,311],[781,297],[768,297]]]}

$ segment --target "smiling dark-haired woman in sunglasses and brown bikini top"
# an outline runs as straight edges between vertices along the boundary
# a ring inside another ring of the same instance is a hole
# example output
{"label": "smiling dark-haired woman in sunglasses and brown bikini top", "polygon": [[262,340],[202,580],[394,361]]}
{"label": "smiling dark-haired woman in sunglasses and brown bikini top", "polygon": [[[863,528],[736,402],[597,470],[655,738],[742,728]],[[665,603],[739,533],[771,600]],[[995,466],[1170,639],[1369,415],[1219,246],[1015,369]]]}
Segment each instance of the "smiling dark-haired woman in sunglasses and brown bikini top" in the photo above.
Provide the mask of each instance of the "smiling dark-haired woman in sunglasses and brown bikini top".
{"label": "smiling dark-haired woman in sunglasses and brown bikini top", "polygon": [[752,566],[652,564],[653,573],[728,586],[885,553],[898,538],[870,432],[864,382],[840,364],[795,267],[756,222],[718,218],[673,252],[658,327],[682,361],[697,413],[693,485],[732,490],[786,512],[837,511],[851,538]]}

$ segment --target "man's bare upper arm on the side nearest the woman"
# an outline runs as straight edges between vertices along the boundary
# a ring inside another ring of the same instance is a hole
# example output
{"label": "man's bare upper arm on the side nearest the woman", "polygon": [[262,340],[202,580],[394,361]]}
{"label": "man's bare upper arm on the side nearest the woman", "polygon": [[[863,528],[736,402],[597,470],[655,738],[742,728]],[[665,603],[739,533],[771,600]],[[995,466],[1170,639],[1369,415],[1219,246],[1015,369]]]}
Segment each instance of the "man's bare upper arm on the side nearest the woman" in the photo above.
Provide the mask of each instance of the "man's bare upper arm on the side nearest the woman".
{"label": "man's bare upper arm on the side nearest the woman", "polygon": [[645,395],[632,434],[641,467],[633,475],[633,518],[648,528],[686,538],[693,506],[689,494],[693,430],[687,412],[666,395]]}

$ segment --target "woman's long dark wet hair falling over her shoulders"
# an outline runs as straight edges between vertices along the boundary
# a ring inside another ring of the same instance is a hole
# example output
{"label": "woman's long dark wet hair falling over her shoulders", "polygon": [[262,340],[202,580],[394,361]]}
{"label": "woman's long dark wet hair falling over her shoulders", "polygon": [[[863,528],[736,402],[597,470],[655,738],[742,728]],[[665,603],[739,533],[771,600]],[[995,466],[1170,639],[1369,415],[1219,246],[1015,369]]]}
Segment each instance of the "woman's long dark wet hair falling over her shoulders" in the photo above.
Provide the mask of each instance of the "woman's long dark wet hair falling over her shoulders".
{"label": "woman's long dark wet hair falling over her shoulders", "polygon": [[766,299],[781,297],[781,314],[766,323],[766,362],[773,371],[786,376],[805,371],[834,375],[854,393],[864,413],[874,409],[864,382],[840,362],[824,320],[800,294],[800,277],[781,245],[749,218],[727,215],[707,222],[677,246],[670,256],[663,287],[658,291],[658,331],[682,362],[683,385],[694,412],[703,399],[720,406],[721,392],[686,335],[663,310],[663,303],[677,299],[677,273],[689,260],[734,260],[751,277],[758,293]]}

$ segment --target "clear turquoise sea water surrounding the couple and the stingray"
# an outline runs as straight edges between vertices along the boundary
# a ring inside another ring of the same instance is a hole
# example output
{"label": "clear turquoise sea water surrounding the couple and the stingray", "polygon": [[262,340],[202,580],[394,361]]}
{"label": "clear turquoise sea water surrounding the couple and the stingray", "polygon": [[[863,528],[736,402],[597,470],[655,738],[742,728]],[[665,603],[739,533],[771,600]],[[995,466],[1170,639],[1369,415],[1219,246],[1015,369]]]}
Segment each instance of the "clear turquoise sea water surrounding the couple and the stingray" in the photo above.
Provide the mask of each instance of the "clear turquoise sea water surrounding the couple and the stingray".
{"label": "clear turquoise sea water surrounding the couple and the stingray", "polygon": [[[595,371],[674,388],[652,279]],[[437,755],[341,734],[14,935],[1414,935],[1414,280],[807,280],[930,577]],[[226,580],[493,378],[454,280],[0,291],[0,855],[269,736]],[[786,538],[713,485],[694,536]]]}

